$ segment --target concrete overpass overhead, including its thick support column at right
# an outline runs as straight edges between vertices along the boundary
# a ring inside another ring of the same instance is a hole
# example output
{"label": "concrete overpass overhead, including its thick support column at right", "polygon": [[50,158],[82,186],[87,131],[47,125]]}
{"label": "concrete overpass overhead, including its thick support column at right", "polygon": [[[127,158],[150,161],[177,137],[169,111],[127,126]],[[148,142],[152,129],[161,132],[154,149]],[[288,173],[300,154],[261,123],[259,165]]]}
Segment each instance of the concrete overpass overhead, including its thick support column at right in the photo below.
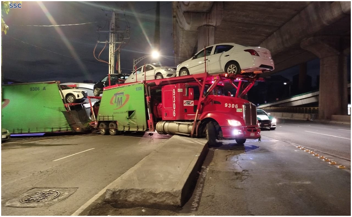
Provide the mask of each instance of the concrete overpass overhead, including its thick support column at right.
{"label": "concrete overpass overhead, including its thick support column at right", "polygon": [[[234,42],[271,51],[275,71],[320,58],[319,118],[347,115],[351,2],[173,2],[176,65],[204,46]],[[334,101],[334,105],[331,104]]]}

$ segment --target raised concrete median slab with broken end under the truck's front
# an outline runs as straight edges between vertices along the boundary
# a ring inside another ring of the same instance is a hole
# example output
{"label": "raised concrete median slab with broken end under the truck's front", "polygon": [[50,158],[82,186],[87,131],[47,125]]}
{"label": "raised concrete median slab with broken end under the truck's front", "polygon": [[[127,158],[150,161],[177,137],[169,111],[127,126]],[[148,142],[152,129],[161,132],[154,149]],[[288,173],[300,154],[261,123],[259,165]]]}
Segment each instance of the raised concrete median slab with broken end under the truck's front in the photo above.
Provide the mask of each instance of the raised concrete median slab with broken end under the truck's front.
{"label": "raised concrete median slab with broken end under the truck's front", "polygon": [[105,200],[118,207],[180,207],[205,159],[205,139],[174,135],[115,180]]}

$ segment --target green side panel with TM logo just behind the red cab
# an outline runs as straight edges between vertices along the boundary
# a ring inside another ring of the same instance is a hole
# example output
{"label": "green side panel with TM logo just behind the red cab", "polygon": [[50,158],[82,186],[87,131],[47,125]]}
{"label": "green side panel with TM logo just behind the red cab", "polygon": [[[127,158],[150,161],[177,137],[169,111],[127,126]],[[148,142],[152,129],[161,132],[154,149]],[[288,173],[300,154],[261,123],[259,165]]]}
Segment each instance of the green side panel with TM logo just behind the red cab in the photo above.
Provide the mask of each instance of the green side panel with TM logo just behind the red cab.
{"label": "green side panel with TM logo just behind the red cab", "polygon": [[118,130],[145,131],[147,128],[143,83],[104,90],[98,121],[117,121]]}

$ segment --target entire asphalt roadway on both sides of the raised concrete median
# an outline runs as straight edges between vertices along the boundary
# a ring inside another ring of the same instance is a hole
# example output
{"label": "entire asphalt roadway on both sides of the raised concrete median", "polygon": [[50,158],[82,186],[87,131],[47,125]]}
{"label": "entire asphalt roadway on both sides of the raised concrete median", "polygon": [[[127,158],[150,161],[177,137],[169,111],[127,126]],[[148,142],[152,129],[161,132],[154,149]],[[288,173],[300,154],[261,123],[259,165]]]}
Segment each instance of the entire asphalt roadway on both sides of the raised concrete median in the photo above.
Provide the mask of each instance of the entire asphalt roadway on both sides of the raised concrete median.
{"label": "entire asphalt roadway on both sides of the raised concrete median", "polygon": [[[262,131],[260,143],[219,142],[209,150],[193,196],[175,210],[120,209],[99,197],[167,136],[75,135],[11,141],[1,146],[1,214],[71,215],[98,195],[81,215],[350,216],[350,130],[346,125],[282,120],[276,130]],[[298,145],[349,168],[329,165]],[[37,189],[71,194],[51,206],[19,208],[9,203]]]}

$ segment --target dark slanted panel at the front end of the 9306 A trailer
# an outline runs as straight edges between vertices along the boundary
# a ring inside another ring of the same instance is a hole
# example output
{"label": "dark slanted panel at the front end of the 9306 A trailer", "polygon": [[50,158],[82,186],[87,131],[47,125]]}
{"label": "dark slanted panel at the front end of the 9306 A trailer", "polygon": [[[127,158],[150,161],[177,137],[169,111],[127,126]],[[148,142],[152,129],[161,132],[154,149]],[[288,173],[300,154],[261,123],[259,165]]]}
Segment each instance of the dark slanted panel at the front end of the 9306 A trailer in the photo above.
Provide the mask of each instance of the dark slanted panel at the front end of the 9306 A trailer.
{"label": "dark slanted panel at the front end of the 9306 A trailer", "polygon": [[82,105],[71,106],[71,111],[62,111],[72,132],[84,133],[89,131],[90,127],[84,126],[89,122],[89,117]]}

